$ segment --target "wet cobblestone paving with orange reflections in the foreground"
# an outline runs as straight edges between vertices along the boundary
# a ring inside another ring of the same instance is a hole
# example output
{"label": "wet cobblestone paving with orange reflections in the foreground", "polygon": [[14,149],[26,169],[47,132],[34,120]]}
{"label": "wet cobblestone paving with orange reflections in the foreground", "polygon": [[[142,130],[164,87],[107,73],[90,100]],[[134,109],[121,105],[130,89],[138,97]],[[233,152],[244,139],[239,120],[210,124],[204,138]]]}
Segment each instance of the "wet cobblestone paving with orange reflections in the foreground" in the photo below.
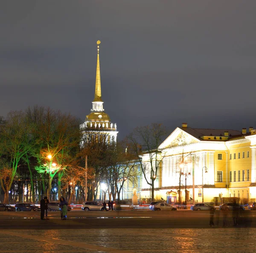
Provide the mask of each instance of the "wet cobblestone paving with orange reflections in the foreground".
{"label": "wet cobblestone paving with orange reflections in the foreground", "polygon": [[256,228],[0,230],[1,253],[250,253]]}

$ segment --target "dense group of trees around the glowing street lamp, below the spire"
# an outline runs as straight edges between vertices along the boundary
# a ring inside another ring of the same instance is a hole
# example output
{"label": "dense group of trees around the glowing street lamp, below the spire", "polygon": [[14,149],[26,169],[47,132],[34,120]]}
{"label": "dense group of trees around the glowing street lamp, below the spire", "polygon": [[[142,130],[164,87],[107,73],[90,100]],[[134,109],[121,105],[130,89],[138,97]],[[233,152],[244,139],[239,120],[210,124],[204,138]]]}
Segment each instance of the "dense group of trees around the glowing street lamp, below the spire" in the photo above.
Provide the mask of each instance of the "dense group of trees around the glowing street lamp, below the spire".
{"label": "dense group of trees around the glowing street lamp, below the spire", "polygon": [[0,201],[96,200],[102,183],[119,200],[124,182],[136,176],[134,157],[123,152],[126,144],[109,143],[100,131],[85,134],[80,124],[41,106],[0,117]]}

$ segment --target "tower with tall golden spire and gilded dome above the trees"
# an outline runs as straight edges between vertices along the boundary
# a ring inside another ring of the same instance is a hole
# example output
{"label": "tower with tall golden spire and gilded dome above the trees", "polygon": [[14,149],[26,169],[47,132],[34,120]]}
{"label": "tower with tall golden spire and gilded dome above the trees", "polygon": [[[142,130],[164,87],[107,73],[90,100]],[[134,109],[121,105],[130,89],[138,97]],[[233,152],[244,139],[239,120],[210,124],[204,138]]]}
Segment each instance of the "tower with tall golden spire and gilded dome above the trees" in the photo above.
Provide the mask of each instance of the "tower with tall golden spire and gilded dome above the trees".
{"label": "tower with tall golden spire and gilded dome above the trees", "polygon": [[81,124],[81,129],[84,130],[84,134],[89,133],[101,133],[105,134],[108,142],[116,142],[117,129],[116,124],[113,124],[108,116],[108,114],[103,109],[103,101],[101,95],[101,80],[100,80],[100,68],[99,68],[99,44],[97,41],[97,67],[96,67],[96,84],[95,84],[95,94],[93,99],[93,109],[83,124]]}

